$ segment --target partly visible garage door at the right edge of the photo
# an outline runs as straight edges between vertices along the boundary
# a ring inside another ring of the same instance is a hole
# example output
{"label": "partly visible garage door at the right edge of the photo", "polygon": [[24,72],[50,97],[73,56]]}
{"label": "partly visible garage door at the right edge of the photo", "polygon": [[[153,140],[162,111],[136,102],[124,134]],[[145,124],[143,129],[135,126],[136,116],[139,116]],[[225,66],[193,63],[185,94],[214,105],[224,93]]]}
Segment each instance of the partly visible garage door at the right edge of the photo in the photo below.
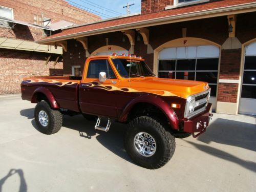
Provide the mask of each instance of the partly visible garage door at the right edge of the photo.
{"label": "partly visible garage door at the right edge of the photo", "polygon": [[256,42],[246,46],[239,113],[256,115]]}

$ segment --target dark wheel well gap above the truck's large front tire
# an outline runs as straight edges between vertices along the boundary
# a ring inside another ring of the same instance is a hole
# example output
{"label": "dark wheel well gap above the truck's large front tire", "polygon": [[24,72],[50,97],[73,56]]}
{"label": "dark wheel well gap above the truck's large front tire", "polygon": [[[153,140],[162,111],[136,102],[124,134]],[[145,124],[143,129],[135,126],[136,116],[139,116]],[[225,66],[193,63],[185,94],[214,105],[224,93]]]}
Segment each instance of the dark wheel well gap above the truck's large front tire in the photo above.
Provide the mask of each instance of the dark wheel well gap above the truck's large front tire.
{"label": "dark wheel well gap above the truck's large front tire", "polygon": [[156,105],[146,102],[136,103],[129,112],[128,120],[132,120],[138,116],[150,116],[154,119],[169,125],[166,115]]}

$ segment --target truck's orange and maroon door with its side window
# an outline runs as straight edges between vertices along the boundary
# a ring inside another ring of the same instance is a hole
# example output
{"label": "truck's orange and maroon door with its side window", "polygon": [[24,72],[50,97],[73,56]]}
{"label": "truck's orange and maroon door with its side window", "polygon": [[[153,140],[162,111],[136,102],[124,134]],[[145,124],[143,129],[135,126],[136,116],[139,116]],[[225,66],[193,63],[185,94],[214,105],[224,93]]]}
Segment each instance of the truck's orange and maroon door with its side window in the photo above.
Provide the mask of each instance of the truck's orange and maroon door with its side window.
{"label": "truck's orange and maroon door with its side window", "polygon": [[[116,91],[117,79],[110,62],[106,58],[92,59],[86,67],[79,87],[80,108],[83,113],[117,117]],[[99,82],[99,73],[106,73],[106,81]]]}

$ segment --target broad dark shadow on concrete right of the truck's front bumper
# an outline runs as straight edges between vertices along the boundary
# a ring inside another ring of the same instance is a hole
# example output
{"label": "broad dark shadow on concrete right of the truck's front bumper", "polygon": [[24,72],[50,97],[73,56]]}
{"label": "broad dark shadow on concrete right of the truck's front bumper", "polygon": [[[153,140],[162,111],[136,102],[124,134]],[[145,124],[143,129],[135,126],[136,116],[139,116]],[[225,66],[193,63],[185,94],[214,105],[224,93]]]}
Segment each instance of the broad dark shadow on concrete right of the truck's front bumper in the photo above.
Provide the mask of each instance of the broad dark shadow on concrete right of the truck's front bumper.
{"label": "broad dark shadow on concrete right of the truck's front bumper", "polygon": [[256,152],[256,125],[217,118],[197,140],[209,144],[216,142]]}

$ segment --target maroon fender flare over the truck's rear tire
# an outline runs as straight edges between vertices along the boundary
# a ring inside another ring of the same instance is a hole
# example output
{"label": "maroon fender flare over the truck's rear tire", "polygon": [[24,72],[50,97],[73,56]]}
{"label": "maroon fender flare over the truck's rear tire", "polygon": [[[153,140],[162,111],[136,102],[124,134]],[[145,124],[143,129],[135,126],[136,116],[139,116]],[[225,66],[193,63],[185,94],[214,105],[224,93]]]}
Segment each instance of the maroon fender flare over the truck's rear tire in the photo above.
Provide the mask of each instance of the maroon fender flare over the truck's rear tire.
{"label": "maroon fender flare over the truck's rear tire", "polygon": [[55,100],[53,94],[49,91],[49,89],[44,88],[44,87],[39,87],[34,91],[33,96],[31,98],[32,103],[37,103],[37,98],[36,98],[37,93],[42,93],[47,97],[48,101],[50,102],[51,108],[59,109],[59,105],[58,105],[57,101]]}

